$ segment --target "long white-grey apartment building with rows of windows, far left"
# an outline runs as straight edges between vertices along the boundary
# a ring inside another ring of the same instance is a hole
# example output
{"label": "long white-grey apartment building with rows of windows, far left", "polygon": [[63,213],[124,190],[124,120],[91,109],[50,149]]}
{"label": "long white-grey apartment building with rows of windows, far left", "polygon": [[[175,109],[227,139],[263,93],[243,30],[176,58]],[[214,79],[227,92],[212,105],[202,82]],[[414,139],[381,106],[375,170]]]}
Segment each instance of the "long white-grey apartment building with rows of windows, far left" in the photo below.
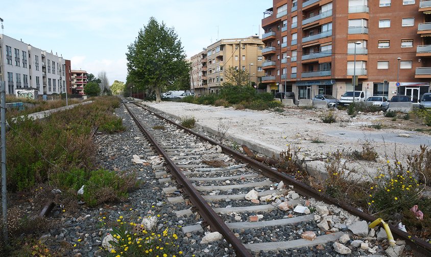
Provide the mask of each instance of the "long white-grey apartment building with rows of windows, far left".
{"label": "long white-grey apartment building with rows of windows, far left", "polygon": [[0,34],[0,79],[7,94],[19,89],[37,89],[39,95],[65,91],[65,60],[30,44]]}

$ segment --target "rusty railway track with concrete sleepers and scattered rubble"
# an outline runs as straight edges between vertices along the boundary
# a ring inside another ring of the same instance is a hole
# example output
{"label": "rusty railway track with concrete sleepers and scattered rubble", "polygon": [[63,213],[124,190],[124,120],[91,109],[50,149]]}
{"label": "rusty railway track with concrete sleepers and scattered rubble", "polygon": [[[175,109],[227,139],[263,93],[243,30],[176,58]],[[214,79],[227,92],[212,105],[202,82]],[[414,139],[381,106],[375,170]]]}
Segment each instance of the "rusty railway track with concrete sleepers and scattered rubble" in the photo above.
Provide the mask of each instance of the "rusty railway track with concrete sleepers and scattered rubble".
{"label": "rusty railway track with concrete sleepers and scattered rubble", "polygon": [[[183,208],[177,216],[197,210],[202,218],[198,223],[207,223],[211,231],[221,233],[236,256],[308,256],[296,250],[302,247],[317,252],[338,249],[332,250],[334,254],[353,250],[357,256],[371,256],[376,251],[384,255],[374,256],[386,255],[375,240],[378,230],[368,229],[367,222],[375,220],[371,215],[338,203],[133,101],[123,102],[148,144],[163,157],[153,168],[163,191],[172,196],[169,201]],[[193,209],[186,202],[191,202]],[[391,230],[410,245],[414,256],[429,256],[428,243],[394,227]],[[202,231],[202,226],[183,227],[184,233],[194,231]],[[349,244],[350,248],[344,246]]]}

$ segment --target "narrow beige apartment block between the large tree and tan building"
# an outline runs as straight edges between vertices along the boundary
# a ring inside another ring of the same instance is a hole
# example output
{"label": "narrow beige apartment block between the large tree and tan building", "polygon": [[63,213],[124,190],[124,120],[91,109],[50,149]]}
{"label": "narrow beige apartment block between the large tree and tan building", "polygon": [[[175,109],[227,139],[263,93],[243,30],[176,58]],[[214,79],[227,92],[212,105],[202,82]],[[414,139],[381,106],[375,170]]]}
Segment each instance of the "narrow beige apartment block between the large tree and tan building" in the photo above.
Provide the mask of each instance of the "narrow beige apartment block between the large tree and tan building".
{"label": "narrow beige apartment block between the large tree and tan building", "polygon": [[203,95],[207,92],[207,52],[201,51],[191,56],[190,90],[196,95]]}

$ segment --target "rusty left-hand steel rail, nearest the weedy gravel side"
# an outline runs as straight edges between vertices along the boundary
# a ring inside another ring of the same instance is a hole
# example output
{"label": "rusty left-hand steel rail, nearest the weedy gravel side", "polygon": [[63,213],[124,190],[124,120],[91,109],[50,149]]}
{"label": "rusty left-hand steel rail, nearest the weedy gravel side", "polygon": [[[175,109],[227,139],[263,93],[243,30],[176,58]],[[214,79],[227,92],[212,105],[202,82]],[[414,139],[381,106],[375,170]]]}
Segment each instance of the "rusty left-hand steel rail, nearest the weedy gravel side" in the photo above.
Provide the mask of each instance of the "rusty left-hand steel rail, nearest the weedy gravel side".
{"label": "rusty left-hand steel rail, nearest the weedy gravel side", "polygon": [[133,118],[136,125],[151,142],[155,150],[166,160],[166,165],[171,170],[171,173],[175,176],[177,183],[183,186],[182,189],[188,194],[190,202],[198,209],[199,214],[202,216],[202,218],[206,222],[208,222],[208,224],[211,226],[211,230],[220,232],[224,236],[226,241],[228,241],[235,249],[237,256],[252,257],[253,255],[249,252],[249,250],[245,248],[244,244],[238,238],[235,237],[235,235],[225,224],[225,222],[216,212],[214,212],[214,210],[212,210],[212,208],[207,204],[202,195],[198,192],[198,190],[196,190],[196,188],[190,183],[190,181],[188,181],[188,179],[184,176],[179,167],[171,160],[171,158],[167,156],[166,152],[159,146],[157,141],[148,132],[148,130],[141,125],[141,123],[138,121],[138,119],[132,113],[129,107],[127,107],[126,104],[124,104],[124,106],[130,113],[130,116]]}

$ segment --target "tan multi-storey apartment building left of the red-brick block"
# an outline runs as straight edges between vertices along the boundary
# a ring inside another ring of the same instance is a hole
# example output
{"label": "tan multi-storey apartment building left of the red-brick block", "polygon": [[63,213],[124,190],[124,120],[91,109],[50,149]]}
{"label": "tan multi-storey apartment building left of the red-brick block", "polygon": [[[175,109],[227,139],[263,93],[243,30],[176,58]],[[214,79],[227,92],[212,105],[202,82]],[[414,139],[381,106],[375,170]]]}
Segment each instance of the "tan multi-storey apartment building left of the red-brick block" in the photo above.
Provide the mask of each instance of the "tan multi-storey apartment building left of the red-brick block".
{"label": "tan multi-storey apartment building left of the red-brick block", "polygon": [[251,82],[259,84],[264,75],[262,70],[263,46],[264,44],[257,36],[222,39],[208,46],[207,92],[217,93],[219,91],[223,83],[223,71],[229,66],[247,70],[250,73]]}

